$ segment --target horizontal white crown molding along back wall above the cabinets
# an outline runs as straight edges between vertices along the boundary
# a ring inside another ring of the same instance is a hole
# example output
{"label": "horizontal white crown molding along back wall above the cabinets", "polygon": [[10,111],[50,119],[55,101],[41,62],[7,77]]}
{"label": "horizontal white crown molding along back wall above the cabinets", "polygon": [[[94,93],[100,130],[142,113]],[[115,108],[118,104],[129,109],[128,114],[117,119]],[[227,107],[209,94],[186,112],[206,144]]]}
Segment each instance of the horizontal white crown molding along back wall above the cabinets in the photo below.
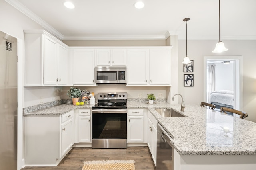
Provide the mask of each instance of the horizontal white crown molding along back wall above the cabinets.
{"label": "horizontal white crown molding along back wall above the cabinets", "polygon": [[64,36],[62,40],[166,40],[165,35]]}

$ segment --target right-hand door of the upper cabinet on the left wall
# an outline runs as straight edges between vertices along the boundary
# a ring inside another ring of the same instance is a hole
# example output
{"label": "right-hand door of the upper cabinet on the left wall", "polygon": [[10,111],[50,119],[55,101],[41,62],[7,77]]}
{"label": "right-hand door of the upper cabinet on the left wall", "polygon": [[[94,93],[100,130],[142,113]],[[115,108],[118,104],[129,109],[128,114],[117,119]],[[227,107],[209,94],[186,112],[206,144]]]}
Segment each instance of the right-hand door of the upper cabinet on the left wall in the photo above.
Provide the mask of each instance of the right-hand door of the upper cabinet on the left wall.
{"label": "right-hand door of the upper cabinet on the left wall", "polygon": [[68,83],[68,49],[58,45],[58,84]]}

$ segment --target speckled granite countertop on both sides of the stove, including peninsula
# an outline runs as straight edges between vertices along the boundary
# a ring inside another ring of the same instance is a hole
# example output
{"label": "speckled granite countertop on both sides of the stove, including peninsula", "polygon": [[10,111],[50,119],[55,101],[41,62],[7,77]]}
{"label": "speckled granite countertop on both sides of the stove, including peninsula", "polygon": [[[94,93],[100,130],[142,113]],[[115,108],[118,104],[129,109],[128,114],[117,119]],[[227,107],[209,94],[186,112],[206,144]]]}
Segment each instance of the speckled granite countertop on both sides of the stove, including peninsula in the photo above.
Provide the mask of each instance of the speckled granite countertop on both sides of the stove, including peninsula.
{"label": "speckled granite countertop on both sides of the stove, including peninsula", "polygon": [[[62,115],[72,109],[92,106],[61,104],[23,115]],[[180,112],[180,104],[166,102],[128,102],[127,108],[148,109],[173,137],[170,142],[180,155],[256,155],[256,123],[252,121],[189,104],[184,112]],[[162,117],[154,110],[157,108],[172,108],[186,117]]]}

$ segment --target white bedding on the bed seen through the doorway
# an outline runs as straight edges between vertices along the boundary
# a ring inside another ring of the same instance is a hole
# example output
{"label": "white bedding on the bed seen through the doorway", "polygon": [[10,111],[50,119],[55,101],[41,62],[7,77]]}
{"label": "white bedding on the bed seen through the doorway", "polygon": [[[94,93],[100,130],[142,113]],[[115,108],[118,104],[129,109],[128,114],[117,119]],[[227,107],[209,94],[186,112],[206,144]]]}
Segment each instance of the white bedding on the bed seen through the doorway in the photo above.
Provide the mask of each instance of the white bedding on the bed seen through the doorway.
{"label": "white bedding on the bed seen through the doorway", "polygon": [[233,91],[229,90],[220,90],[214,91],[210,94],[209,102],[221,103],[226,105],[234,105],[234,95]]}

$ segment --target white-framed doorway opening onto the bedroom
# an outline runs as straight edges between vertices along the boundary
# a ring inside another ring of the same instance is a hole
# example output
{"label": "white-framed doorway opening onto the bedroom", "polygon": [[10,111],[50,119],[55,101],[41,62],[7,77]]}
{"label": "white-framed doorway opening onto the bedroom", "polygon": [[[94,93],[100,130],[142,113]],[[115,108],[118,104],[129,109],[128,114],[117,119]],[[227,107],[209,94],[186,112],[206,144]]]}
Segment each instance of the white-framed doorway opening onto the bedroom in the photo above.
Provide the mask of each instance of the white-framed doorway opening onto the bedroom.
{"label": "white-framed doorway opening onto the bedroom", "polygon": [[204,101],[220,107],[242,108],[242,57],[204,57]]}

